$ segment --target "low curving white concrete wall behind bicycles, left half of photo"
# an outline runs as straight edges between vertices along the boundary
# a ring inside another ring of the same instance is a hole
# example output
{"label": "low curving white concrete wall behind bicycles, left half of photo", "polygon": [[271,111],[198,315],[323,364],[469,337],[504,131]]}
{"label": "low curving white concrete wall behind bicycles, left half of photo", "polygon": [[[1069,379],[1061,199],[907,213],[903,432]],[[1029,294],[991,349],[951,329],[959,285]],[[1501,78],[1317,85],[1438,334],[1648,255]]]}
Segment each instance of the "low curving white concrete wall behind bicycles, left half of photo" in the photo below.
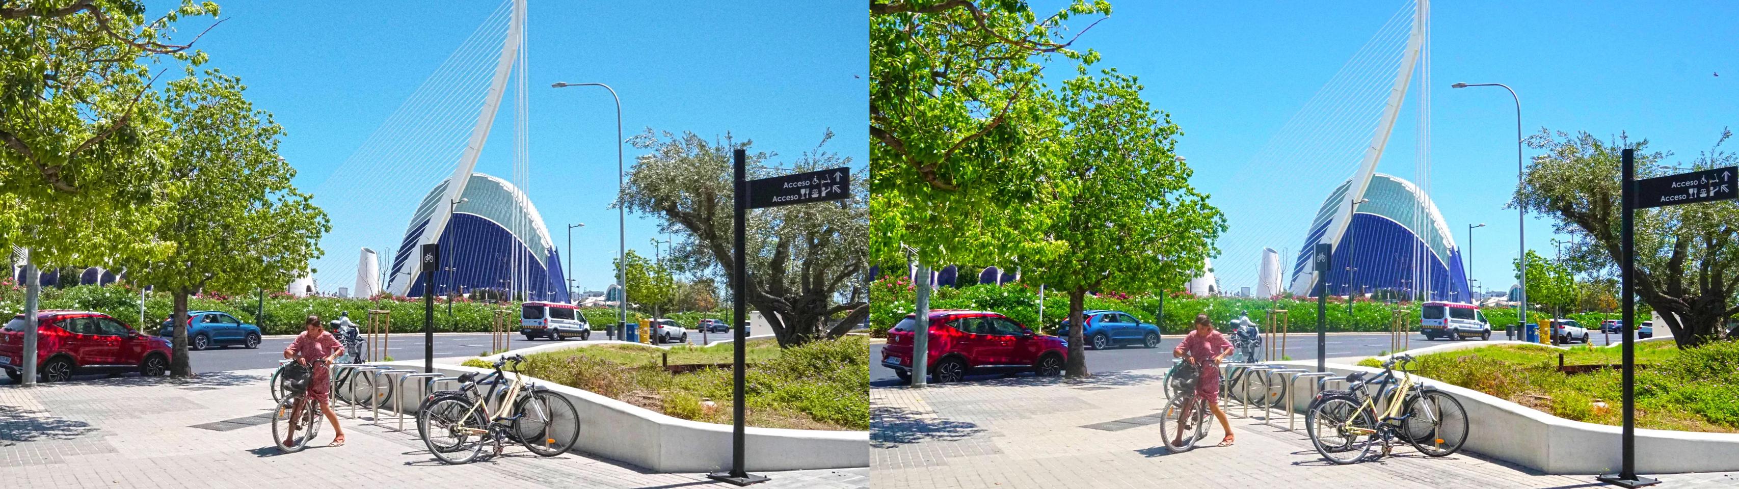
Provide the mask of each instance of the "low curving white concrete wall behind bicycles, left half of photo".
{"label": "low curving white concrete wall behind bicycles, left half of photo", "polygon": [[[550,343],[508,353],[525,355],[612,343],[635,345],[624,341]],[[388,362],[386,365],[423,371],[423,362],[419,360]],[[490,372],[489,369],[442,364],[436,364],[435,371],[447,376]],[[393,378],[396,379],[398,376]],[[586,390],[537,378],[527,379],[562,393],[574,402],[574,409],[579,411],[581,418],[579,442],[574,444],[576,452],[612,458],[652,472],[716,472],[730,468],[730,425],[678,419]],[[409,393],[405,404],[414,409],[414,404],[426,393],[421,383],[405,385],[409,388],[402,392],[395,390],[395,395]],[[450,390],[454,386],[452,383],[443,383],[436,388]],[[393,400],[388,400],[386,407],[393,407]],[[744,463],[748,465],[744,470],[748,472],[870,466],[870,432],[750,426],[744,430]]]}

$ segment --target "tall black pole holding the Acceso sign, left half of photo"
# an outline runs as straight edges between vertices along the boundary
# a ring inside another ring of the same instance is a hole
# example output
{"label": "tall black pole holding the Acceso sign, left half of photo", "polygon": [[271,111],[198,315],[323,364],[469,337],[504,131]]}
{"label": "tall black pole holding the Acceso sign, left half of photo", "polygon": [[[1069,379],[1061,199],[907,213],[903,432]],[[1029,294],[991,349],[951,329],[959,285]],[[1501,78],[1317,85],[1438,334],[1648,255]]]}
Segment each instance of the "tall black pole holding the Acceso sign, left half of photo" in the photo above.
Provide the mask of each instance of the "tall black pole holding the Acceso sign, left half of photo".
{"label": "tall black pole holding the Acceso sign, left half of photo", "polygon": [[744,224],[746,223],[746,214],[750,211],[750,184],[746,181],[746,172],[748,171],[746,171],[746,164],[744,164],[746,157],[748,155],[746,155],[744,150],[736,150],[736,151],[730,153],[732,165],[736,167],[736,197],[737,197],[736,198],[737,200],[736,202],[736,211],[737,211],[736,212],[736,223],[732,223],[732,226],[736,228],[736,263],[732,263],[732,266],[730,266],[732,268],[730,275],[736,278],[736,282],[730,284],[730,310],[734,313],[730,317],[730,320],[736,322],[736,327],[732,327],[732,338],[736,338],[736,345],[732,348],[734,355],[736,355],[736,367],[734,367],[734,372],[732,372],[732,388],[730,388],[730,414],[732,414],[732,423],[730,423],[730,472],[713,472],[713,473],[706,475],[706,479],[723,480],[723,482],[730,482],[730,484],[736,484],[736,486],[750,486],[750,484],[755,484],[755,482],[767,482],[767,477],[751,475],[743,466],[744,465],[743,463],[743,451],[744,451],[743,449],[743,439],[744,439],[744,433],[743,433],[743,369],[744,369],[743,364],[744,364],[744,345],[743,343],[748,343],[748,339],[750,339],[750,336],[746,332],[748,306],[743,303],[743,294],[744,294],[744,291],[748,291],[748,282],[750,282],[748,265],[746,265],[748,263],[748,258],[746,258],[748,256],[746,254],[748,245],[746,245],[746,242],[743,238],[744,233],[746,233],[746,228],[748,228]]}

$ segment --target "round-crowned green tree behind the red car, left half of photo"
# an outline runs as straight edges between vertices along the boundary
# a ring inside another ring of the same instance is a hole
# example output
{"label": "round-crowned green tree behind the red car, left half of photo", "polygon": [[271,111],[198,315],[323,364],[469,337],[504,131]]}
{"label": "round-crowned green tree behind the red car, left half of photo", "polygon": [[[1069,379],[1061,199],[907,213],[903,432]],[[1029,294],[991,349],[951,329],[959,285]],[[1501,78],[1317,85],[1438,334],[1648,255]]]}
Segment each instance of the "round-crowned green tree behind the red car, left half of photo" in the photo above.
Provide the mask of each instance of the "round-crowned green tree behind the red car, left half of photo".
{"label": "round-crowned green tree behind the red car, left half of photo", "polygon": [[130,259],[127,273],[174,298],[170,374],[188,376],[188,296],[238,294],[278,287],[320,256],[327,216],[290,183],[296,169],[278,157],[283,129],[256,110],[242,80],[216,70],[169,84],[165,108],[172,148],[169,176],[184,191],[144,235],[169,249],[157,259]]}

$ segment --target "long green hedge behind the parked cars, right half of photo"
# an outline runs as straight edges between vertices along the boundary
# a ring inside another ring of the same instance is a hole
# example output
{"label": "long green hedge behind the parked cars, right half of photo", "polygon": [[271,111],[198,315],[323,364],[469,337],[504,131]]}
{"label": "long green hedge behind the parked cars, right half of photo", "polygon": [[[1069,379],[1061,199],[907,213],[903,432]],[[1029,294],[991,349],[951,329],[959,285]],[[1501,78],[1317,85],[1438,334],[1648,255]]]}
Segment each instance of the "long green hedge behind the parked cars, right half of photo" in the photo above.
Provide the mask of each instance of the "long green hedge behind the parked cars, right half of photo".
{"label": "long green hedge behind the parked cars, right half of photo", "polygon": [[[1047,289],[1045,310],[1040,318],[1038,289],[1026,284],[969,285],[960,289],[939,287],[930,294],[930,308],[989,310],[1003,313],[1029,327],[1040,325],[1045,332],[1052,332],[1057,324],[1068,317],[1069,298],[1064,292]],[[1153,294],[1127,298],[1113,298],[1111,294],[1087,296],[1083,299],[1083,308],[1127,311],[1143,322],[1158,324],[1167,334],[1186,332],[1198,313],[1207,313],[1216,325],[1224,325],[1245,311],[1252,320],[1263,322],[1266,310],[1287,310],[1290,331],[1315,331],[1316,327],[1316,301],[1313,299],[1195,298],[1184,292],[1174,292],[1165,298],[1163,322],[1155,320],[1162,311],[1160,298]],[[904,277],[883,277],[870,285],[871,336],[885,336],[896,322],[904,318],[913,310],[916,310],[916,294],[911,289],[911,280]],[[1389,322],[1393,320],[1393,310],[1405,310],[1409,315],[1409,325],[1419,320],[1419,306],[1414,303],[1388,305],[1358,301],[1353,303],[1353,310],[1348,313],[1344,299],[1330,298],[1329,308],[1325,310],[1327,329],[1369,332],[1388,331]],[[1501,329],[1506,324],[1515,324],[1516,313],[1513,308],[1487,308],[1483,311],[1494,327]],[[1530,311],[1529,317],[1534,317],[1534,313]],[[1574,313],[1569,317],[1584,325],[1600,325],[1600,320],[1617,318],[1616,313]]]}

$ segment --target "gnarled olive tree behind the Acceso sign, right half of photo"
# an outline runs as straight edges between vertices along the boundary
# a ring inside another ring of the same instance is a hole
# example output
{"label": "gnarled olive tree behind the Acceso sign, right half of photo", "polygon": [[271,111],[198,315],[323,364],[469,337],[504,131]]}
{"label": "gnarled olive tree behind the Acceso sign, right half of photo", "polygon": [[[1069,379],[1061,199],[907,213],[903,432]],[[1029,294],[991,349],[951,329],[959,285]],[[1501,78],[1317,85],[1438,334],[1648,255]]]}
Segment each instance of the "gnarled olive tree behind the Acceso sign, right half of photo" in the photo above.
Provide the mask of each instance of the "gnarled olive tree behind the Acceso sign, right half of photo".
{"label": "gnarled olive tree behind the Acceso sign, right half of photo", "polygon": [[[1739,155],[1720,148],[1730,136],[1723,129],[1715,146],[1699,153],[1690,167],[1739,164]],[[1570,136],[1541,131],[1527,143],[1546,153],[1534,157],[1518,200],[1511,205],[1555,219],[1555,230],[1572,237],[1567,256],[1576,268],[1616,277],[1617,265],[1622,263],[1622,150],[1636,151],[1638,179],[1682,169],[1664,165],[1671,153],[1645,151],[1647,139],[1631,141],[1624,134],[1614,141],[1600,141],[1588,132]],[[1662,311],[1661,318],[1680,348],[1723,338],[1722,322],[1739,313],[1739,306],[1732,306],[1739,294],[1739,202],[1640,209],[1635,226],[1636,268],[1631,275],[1636,296]]]}

